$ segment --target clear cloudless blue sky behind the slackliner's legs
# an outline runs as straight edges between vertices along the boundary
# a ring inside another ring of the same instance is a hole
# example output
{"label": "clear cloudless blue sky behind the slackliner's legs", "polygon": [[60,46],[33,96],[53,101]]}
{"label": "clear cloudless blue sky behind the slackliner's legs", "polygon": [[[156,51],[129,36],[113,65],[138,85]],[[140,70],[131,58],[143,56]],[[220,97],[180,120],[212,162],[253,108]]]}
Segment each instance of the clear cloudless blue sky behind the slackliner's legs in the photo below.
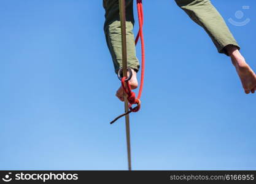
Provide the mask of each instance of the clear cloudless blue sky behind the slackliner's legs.
{"label": "clear cloudless blue sky behind the slackliner's legs", "polygon": [[[256,70],[256,1],[212,4]],[[256,169],[256,94],[173,0],[145,1],[144,15],[133,169]],[[127,169],[125,120],[109,125],[124,108],[103,23],[102,1],[1,0],[0,169]]]}

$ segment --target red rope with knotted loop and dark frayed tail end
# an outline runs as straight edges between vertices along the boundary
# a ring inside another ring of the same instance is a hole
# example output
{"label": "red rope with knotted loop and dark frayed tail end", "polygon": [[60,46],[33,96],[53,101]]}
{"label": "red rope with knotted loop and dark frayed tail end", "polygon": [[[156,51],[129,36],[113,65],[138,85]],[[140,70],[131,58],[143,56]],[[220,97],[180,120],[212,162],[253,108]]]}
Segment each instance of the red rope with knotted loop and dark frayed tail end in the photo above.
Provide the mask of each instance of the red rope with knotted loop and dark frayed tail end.
{"label": "red rope with knotted loop and dark frayed tail end", "polygon": [[[143,21],[144,21],[144,15],[143,15],[143,7],[142,7],[142,0],[137,0],[137,9],[138,9],[138,17],[139,17],[139,32],[138,35],[136,36],[135,39],[135,44],[137,45],[139,38],[141,38],[141,84],[139,86],[139,93],[138,97],[136,98],[136,94],[131,91],[131,86],[128,81],[125,81],[126,77],[123,77],[121,82],[122,82],[122,87],[123,91],[127,94],[127,100],[129,102],[129,109],[130,111],[123,113],[122,115],[118,116],[115,118],[115,120],[111,121],[111,124],[114,123],[118,118],[121,118],[128,113],[131,112],[138,112],[139,109],[141,108],[141,94],[142,94],[142,89],[144,85],[144,68],[145,68],[145,45],[144,45],[144,37],[143,37]],[[132,107],[133,104],[137,104],[136,107]]]}

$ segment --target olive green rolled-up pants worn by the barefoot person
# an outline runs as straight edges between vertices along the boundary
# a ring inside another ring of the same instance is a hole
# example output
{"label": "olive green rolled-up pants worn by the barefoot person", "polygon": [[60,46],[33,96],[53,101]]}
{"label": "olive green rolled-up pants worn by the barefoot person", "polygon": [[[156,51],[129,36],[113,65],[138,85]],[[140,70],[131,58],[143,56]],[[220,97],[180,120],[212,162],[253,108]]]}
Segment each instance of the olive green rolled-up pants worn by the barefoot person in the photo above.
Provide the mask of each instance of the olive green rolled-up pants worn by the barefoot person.
{"label": "olive green rolled-up pants worn by the barefoot person", "polygon": [[[215,7],[212,6],[210,0],[175,1],[193,21],[204,28],[206,33],[211,37],[219,53],[228,55],[225,51],[227,45],[235,45],[239,49],[239,46],[230,33],[225,21]],[[104,33],[106,35],[107,46],[111,52],[115,72],[117,72],[118,69],[122,67],[122,41],[118,0],[103,0],[103,7],[106,10]],[[133,0],[126,0],[127,65],[138,72],[139,62],[138,58],[136,58],[133,26]]]}

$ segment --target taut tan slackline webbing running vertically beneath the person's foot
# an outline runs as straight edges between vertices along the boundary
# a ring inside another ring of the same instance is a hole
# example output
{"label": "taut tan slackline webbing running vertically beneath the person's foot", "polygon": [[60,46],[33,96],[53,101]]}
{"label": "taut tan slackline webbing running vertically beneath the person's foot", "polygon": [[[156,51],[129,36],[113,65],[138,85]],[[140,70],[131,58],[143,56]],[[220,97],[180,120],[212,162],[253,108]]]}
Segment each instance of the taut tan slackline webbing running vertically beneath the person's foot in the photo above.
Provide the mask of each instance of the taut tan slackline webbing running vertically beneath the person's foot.
{"label": "taut tan slackline webbing running vertically beneath the person's foot", "polygon": [[[127,50],[126,50],[126,13],[125,13],[125,0],[119,0],[119,12],[121,22],[121,34],[122,34],[122,63],[123,63],[123,77],[127,77]],[[128,100],[125,93],[125,112],[128,112]],[[131,144],[130,144],[130,120],[129,114],[125,116],[126,126],[126,144],[127,144],[127,156],[128,156],[128,170],[131,171]]]}

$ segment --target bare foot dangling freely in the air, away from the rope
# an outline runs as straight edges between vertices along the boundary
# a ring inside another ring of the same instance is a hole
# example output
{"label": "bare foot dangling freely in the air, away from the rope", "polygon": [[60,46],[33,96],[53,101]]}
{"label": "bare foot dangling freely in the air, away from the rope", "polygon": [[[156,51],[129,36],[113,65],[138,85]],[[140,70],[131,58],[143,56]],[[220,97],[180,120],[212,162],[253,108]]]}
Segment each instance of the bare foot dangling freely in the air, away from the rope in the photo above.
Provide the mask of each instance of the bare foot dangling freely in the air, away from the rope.
{"label": "bare foot dangling freely in the air, away from the rope", "polygon": [[244,92],[246,94],[254,93],[256,91],[256,75],[254,71],[246,63],[244,57],[236,47],[228,45],[227,51],[233,65],[236,67],[236,72],[238,72]]}

